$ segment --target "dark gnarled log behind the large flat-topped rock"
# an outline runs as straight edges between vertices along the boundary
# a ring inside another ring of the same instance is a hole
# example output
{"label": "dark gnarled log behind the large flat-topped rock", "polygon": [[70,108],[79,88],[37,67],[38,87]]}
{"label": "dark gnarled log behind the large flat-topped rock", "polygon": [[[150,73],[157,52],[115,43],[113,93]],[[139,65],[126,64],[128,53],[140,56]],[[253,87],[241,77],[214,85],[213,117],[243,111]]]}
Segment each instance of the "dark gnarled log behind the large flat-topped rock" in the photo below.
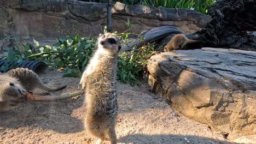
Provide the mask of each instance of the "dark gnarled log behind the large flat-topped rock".
{"label": "dark gnarled log behind the large flat-topped rock", "polygon": [[[222,47],[256,51],[256,0],[217,0],[209,9],[212,21],[188,35],[202,40],[202,47]],[[188,45],[186,49],[194,49]]]}

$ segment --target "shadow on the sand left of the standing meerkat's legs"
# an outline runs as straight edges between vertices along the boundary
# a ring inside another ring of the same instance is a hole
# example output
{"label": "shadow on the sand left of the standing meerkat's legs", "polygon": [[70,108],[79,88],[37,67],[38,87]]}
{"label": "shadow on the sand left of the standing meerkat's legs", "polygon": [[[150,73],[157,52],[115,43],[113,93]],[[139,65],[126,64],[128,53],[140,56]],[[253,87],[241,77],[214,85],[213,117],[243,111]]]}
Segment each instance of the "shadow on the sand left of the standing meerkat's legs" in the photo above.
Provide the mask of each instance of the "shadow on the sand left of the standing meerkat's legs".
{"label": "shadow on the sand left of the standing meerkat's legs", "polygon": [[[22,127],[42,128],[58,133],[76,133],[84,130],[83,112],[73,116],[72,112],[83,105],[84,97],[53,102],[27,101],[15,110],[0,113],[0,127],[18,129]],[[81,110],[83,107],[80,108]],[[84,110],[84,109],[83,109]]]}

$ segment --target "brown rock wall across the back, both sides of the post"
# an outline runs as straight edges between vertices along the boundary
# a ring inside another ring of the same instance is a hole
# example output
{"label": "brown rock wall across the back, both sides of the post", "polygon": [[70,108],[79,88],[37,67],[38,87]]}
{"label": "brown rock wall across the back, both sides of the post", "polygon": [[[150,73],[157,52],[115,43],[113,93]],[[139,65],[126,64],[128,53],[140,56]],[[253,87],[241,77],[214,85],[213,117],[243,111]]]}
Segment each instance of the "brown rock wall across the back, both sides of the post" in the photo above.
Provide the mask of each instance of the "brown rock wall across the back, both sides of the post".
{"label": "brown rock wall across the back, both sides of the post", "polygon": [[[188,9],[166,9],[145,5],[117,3],[112,9],[113,30],[141,32],[157,26],[177,26],[184,32],[195,32],[211,20]],[[106,26],[107,7],[102,3],[77,0],[9,0],[0,1],[0,38],[56,38],[80,34],[94,37]]]}

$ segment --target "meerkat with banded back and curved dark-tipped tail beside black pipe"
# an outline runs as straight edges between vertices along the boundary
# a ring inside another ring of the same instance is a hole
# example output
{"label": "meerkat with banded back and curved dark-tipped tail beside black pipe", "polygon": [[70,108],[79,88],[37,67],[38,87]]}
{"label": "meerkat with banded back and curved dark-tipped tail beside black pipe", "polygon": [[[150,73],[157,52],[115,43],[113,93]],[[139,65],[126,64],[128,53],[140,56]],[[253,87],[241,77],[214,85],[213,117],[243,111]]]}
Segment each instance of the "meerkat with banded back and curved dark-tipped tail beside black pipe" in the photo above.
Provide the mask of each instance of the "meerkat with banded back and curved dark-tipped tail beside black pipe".
{"label": "meerkat with banded back and curved dark-tipped tail beside black pipe", "polygon": [[41,88],[46,91],[55,92],[59,91],[66,86],[62,86],[59,88],[50,88],[48,86],[45,86],[43,82],[41,81],[40,77],[34,73],[34,71],[29,70],[27,68],[16,68],[11,69],[5,73],[9,76],[13,76],[16,79],[18,79],[21,83],[21,85],[27,90],[27,91],[33,91],[34,88]]}

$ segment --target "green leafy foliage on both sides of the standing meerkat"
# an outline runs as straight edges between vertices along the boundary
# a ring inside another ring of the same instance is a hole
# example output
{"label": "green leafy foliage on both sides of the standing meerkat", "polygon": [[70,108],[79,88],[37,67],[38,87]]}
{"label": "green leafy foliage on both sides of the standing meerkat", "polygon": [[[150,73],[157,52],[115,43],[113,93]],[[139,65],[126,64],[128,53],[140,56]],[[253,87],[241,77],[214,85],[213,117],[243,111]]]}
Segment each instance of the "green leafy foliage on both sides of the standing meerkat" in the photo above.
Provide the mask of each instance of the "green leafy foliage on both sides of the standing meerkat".
{"label": "green leafy foliage on both sides of the standing meerkat", "polygon": [[[129,34],[124,32],[117,35],[124,42]],[[44,61],[53,68],[64,70],[66,72],[64,77],[81,77],[95,51],[96,42],[94,38],[81,38],[79,35],[67,39],[57,38],[57,43],[53,46],[39,46],[38,41],[34,40],[36,47],[30,47],[27,43],[25,52],[10,49],[9,52],[5,52],[5,59],[11,62]],[[148,44],[129,52],[121,52],[118,58],[118,79],[132,86],[139,85],[139,80],[147,75],[146,66],[154,47],[154,44]],[[7,70],[7,68],[8,65],[1,69]]]}

